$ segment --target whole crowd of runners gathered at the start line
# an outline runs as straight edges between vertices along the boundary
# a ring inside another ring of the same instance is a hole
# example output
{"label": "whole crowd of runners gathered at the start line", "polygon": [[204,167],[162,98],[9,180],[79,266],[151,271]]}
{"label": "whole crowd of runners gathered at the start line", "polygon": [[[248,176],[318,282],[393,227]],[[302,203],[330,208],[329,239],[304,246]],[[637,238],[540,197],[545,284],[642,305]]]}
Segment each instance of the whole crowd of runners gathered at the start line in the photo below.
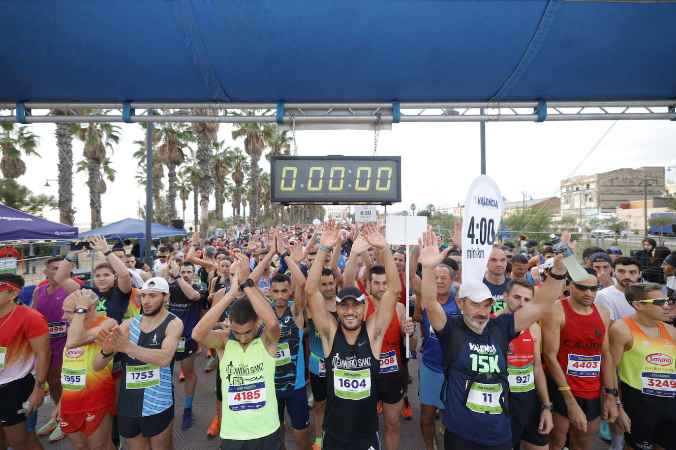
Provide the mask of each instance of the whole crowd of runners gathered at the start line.
{"label": "whole crowd of runners gathered at the start line", "polygon": [[[573,280],[552,242],[506,242],[466,279],[459,232],[398,246],[385,226],[194,233],[152,266],[93,235],[45,262],[30,306],[24,279],[0,274],[0,448],[42,449],[49,434],[170,449],[173,371],[187,428],[206,352],[214,448],[281,449],[286,412],[303,450],[397,449],[416,414],[427,450],[439,416],[446,449],[589,449],[608,426],[611,449],[676,449],[676,252],[656,279],[646,261],[587,248]],[[105,257],[92,285],[71,273],[88,250]]]}

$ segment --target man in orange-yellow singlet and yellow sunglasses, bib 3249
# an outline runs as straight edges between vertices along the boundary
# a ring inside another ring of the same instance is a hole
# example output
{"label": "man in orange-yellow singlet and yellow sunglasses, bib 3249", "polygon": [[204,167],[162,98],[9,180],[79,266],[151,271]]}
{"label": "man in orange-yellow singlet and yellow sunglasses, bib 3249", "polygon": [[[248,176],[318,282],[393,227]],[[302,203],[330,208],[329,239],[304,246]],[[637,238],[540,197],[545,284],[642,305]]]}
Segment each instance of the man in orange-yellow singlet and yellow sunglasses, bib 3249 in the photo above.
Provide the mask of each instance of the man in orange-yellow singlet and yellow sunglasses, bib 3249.
{"label": "man in orange-yellow singlet and yellow sunglasses, bib 3249", "polygon": [[621,379],[617,423],[625,432],[625,448],[673,449],[676,329],[664,324],[673,318],[671,302],[658,283],[634,283],[625,289],[625,298],[635,314],[617,320],[609,331]]}

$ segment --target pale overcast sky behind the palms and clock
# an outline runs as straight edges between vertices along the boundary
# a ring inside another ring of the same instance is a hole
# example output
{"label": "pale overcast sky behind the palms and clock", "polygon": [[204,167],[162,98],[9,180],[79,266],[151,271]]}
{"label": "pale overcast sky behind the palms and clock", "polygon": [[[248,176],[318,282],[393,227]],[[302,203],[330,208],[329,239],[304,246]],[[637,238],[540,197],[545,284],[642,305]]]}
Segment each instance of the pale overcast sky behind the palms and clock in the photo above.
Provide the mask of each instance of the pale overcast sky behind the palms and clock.
{"label": "pale overcast sky behind the palms and clock", "polygon": [[[521,201],[522,191],[533,198],[558,196],[560,182],[571,175],[589,175],[614,169],[642,166],[676,166],[676,124],[671,121],[617,121],[588,159],[575,167],[610,128],[612,121],[490,122],[486,124],[486,171],[500,187],[508,201]],[[57,178],[57,146],[55,125],[31,125],[40,139],[39,157],[28,157],[26,174],[18,179],[35,194],[58,196],[57,181],[51,188],[45,179]],[[240,146],[242,140],[231,138],[232,125],[222,124],[219,140],[228,146]],[[103,223],[126,217],[138,218],[138,206],[145,205],[145,190],[134,175],[138,169],[132,158],[137,146],[134,140],[144,139],[139,124],[120,124],[122,140],[110,154],[112,167],[118,171],[114,182],[101,200]],[[299,155],[371,155],[374,133],[357,130],[298,131]],[[388,207],[388,212],[410,210],[434,204],[441,208],[464,204],[467,188],[480,173],[479,123],[397,123],[379,136],[379,156],[402,157],[402,202]],[[82,159],[82,142],[73,142],[74,162]],[[270,171],[262,158],[260,166]],[[676,179],[676,169],[667,172],[667,179]],[[81,229],[90,223],[87,174],[74,174],[75,222]],[[166,184],[166,177],[164,178]],[[227,204],[227,203],[226,203]],[[180,215],[180,200],[176,208]],[[186,219],[191,219],[191,203]],[[213,208],[213,204],[210,206]],[[381,209],[381,207],[379,207]],[[226,207],[228,213],[230,208]],[[58,210],[45,213],[58,221]]]}

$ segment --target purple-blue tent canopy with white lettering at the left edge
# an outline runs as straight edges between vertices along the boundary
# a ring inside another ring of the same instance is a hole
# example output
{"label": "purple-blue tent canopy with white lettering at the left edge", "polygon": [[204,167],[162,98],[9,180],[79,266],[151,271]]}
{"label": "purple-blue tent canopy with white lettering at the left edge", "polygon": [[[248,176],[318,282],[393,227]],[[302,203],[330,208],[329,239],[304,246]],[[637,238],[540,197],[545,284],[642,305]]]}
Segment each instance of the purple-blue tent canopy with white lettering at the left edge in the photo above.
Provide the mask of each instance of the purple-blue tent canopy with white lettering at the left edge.
{"label": "purple-blue tent canopy with white lettering at the left edge", "polygon": [[24,239],[73,240],[77,227],[56,223],[0,204],[0,241]]}

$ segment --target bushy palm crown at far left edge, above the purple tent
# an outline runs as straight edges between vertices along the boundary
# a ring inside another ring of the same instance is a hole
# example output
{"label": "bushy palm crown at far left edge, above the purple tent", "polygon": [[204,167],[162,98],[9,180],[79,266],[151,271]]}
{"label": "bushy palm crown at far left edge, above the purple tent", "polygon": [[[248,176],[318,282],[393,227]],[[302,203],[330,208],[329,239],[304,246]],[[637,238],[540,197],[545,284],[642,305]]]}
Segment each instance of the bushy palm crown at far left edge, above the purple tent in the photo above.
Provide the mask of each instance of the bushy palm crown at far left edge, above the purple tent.
{"label": "bushy palm crown at far left edge, above the purple tent", "polygon": [[5,178],[16,179],[26,173],[26,163],[21,159],[22,152],[25,156],[40,156],[35,148],[38,146],[39,137],[30,132],[28,125],[14,128],[14,123],[0,123],[0,150],[2,161],[0,171]]}

